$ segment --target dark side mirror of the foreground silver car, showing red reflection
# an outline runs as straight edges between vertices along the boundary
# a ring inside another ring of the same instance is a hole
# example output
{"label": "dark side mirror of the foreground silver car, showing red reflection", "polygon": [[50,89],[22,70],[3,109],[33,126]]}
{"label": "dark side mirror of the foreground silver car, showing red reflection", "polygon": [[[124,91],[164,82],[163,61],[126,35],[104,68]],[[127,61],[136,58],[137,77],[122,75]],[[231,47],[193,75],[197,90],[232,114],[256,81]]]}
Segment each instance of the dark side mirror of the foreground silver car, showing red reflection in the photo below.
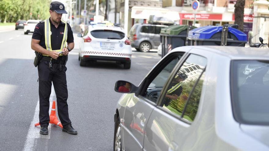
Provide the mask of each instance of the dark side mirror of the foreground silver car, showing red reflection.
{"label": "dark side mirror of the foreground silver car, showing red reflection", "polygon": [[127,81],[116,81],[114,90],[119,93],[135,93],[138,87]]}

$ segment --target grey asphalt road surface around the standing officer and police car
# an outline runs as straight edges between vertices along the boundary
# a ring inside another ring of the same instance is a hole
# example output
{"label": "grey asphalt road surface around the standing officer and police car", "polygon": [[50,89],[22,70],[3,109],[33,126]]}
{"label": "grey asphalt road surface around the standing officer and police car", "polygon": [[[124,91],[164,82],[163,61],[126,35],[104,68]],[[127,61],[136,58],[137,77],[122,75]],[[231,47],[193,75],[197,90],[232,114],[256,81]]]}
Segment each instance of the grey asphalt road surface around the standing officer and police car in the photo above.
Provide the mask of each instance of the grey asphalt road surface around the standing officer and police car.
{"label": "grey asphalt road surface around the standing officer and police car", "polygon": [[[156,52],[133,51],[131,69],[114,62],[80,67],[75,49],[67,63],[69,117],[78,135],[52,125],[41,136],[33,127],[38,109],[38,71],[33,65],[31,34],[23,30],[0,32],[0,150],[113,150],[113,116],[121,94],[114,92],[117,80],[138,85],[160,60]],[[54,95],[52,100],[56,100]]]}

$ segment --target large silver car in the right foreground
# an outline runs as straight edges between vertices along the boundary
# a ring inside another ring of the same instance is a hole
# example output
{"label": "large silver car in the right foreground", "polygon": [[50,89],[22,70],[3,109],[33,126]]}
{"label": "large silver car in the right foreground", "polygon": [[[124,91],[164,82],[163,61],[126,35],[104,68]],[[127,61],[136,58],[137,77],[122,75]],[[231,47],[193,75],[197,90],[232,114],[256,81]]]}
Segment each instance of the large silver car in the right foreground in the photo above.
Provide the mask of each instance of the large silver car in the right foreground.
{"label": "large silver car in the right foreground", "polygon": [[114,150],[269,150],[268,70],[269,49],[175,48],[116,82]]}

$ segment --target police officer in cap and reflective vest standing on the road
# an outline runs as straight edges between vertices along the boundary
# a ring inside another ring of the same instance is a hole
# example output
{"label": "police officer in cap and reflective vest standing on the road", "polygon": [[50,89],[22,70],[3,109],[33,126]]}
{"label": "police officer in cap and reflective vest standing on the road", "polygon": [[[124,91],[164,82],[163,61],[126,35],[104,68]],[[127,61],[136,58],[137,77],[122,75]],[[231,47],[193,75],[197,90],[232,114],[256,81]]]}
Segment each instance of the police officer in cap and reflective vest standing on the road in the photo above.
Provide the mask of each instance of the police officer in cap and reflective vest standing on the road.
{"label": "police officer in cap and reflective vest standing on the road", "polygon": [[40,21],[36,25],[31,41],[31,48],[42,54],[42,59],[38,65],[39,123],[42,135],[48,135],[51,82],[53,82],[57,97],[58,116],[63,125],[63,131],[77,134],[68,115],[65,74],[68,52],[74,48],[74,37],[70,25],[61,20],[63,13],[67,13],[64,10],[64,5],[60,2],[52,2],[50,4],[50,18]]}

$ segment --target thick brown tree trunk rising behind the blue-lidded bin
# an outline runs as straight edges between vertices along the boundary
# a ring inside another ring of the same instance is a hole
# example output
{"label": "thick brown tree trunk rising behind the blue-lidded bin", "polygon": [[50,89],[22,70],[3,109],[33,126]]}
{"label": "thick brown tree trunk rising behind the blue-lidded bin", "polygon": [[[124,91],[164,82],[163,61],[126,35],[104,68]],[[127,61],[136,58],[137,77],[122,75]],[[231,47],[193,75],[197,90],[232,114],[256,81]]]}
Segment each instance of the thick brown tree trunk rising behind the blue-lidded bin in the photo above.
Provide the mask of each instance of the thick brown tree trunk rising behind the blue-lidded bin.
{"label": "thick brown tree trunk rising behind the blue-lidded bin", "polygon": [[238,24],[238,30],[243,31],[245,0],[237,0],[234,7],[234,24]]}

